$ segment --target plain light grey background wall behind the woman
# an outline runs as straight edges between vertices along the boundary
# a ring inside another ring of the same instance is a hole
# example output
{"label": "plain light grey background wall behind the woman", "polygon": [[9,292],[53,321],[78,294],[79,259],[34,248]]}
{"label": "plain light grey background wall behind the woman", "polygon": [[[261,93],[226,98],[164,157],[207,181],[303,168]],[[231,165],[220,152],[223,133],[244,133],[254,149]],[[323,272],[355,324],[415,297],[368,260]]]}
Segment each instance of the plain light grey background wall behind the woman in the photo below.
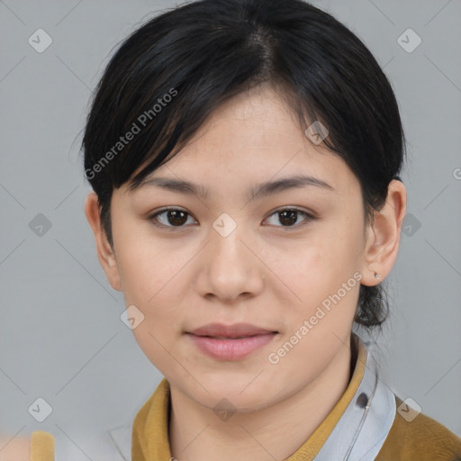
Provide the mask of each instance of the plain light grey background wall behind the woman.
{"label": "plain light grey background wall behind the woman", "polygon": [[[313,3],[384,67],[409,140],[409,215],[378,339],[384,382],[461,436],[461,2]],[[175,5],[0,1],[0,430],[50,431],[83,459],[93,458],[86,434],[130,424],[161,376],[122,323],[122,294],[96,258],[81,131],[116,45]],[[42,53],[28,42],[39,28],[52,38]],[[412,52],[397,41],[408,28],[422,40]],[[31,229],[39,213],[51,225],[42,235]],[[38,397],[53,409],[41,423],[28,411]]]}

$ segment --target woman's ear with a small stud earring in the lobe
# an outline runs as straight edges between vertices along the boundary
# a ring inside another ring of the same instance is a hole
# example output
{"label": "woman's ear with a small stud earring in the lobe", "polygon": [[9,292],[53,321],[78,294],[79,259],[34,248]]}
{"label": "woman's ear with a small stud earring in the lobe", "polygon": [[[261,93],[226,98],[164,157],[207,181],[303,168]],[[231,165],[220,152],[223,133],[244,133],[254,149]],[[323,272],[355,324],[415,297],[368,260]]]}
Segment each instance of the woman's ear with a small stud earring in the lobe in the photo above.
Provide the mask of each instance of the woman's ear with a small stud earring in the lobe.
{"label": "woman's ear with a small stud earring in the lobe", "polygon": [[[378,285],[391,272],[399,251],[406,204],[405,186],[401,181],[393,179],[383,207],[374,212],[374,221],[366,229],[363,277],[360,281],[362,285]],[[376,278],[375,274],[380,277]]]}

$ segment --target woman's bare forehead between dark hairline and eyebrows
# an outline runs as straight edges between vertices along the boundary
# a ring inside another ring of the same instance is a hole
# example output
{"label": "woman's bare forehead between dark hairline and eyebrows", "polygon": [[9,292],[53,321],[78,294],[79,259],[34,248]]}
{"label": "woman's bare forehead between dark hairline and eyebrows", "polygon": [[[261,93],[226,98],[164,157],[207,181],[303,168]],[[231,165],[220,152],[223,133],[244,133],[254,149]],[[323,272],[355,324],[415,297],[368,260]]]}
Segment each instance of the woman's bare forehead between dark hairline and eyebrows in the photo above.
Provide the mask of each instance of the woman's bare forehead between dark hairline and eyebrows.
{"label": "woman's bare forehead between dark hairline and eyebrows", "polygon": [[251,185],[294,175],[333,189],[355,180],[342,158],[307,138],[284,97],[271,86],[257,86],[215,109],[144,185],[152,178],[169,177],[203,185],[203,195],[210,189],[225,194],[236,187],[251,194]]}

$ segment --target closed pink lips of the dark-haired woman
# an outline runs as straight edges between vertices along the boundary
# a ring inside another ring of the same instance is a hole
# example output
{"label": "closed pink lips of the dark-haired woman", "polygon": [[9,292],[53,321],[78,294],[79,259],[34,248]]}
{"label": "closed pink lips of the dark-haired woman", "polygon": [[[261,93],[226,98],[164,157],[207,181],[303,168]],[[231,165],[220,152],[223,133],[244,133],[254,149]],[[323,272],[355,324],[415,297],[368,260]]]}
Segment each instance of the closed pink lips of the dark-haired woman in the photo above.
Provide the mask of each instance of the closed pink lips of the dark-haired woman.
{"label": "closed pink lips of the dark-haired woman", "polygon": [[238,360],[267,345],[277,331],[265,330],[249,323],[224,325],[210,323],[187,332],[205,354],[221,360]]}

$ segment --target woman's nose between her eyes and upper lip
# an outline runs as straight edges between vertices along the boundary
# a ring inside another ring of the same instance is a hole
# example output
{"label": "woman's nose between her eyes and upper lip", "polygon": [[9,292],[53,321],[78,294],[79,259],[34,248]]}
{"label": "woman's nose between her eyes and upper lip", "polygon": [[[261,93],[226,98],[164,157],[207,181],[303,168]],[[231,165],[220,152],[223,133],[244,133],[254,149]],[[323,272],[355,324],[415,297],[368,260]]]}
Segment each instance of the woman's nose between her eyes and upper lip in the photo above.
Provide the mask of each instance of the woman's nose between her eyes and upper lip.
{"label": "woman's nose between her eyes and upper lip", "polygon": [[196,283],[200,294],[223,303],[236,303],[261,293],[264,264],[254,247],[239,226],[227,235],[212,229],[198,264]]}

